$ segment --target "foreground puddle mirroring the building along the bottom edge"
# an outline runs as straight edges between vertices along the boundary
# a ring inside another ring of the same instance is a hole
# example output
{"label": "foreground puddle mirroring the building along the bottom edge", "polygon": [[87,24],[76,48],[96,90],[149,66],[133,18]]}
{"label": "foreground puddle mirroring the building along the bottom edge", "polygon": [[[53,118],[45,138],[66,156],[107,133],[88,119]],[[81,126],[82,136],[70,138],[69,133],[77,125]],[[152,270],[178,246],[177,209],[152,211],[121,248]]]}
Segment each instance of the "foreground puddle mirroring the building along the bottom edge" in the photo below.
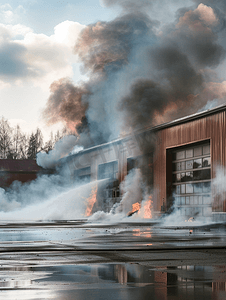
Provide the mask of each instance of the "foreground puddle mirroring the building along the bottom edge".
{"label": "foreground puddle mirroring the building along the bottom edge", "polygon": [[226,266],[1,267],[1,299],[225,299]]}

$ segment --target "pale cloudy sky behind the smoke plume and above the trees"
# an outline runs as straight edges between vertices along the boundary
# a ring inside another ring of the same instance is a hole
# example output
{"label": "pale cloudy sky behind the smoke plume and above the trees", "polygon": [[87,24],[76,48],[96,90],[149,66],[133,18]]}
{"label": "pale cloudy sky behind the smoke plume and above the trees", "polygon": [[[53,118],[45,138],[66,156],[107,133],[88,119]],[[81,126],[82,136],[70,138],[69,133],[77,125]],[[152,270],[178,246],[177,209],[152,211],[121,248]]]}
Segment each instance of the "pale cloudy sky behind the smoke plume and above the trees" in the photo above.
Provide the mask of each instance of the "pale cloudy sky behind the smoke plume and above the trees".
{"label": "pale cloudy sky behind the smoke plume and above the trees", "polygon": [[[86,81],[74,45],[89,24],[110,22],[120,16],[130,0],[113,2],[126,5],[123,8],[111,5],[110,0],[1,1],[0,116],[8,119],[11,125],[19,124],[23,131],[40,127],[45,136],[61,126],[58,123],[49,127],[42,117],[50,86],[61,78],[70,78],[73,83]],[[205,2],[208,4],[211,0]],[[161,33],[161,28],[171,24],[181,8],[194,10],[199,3],[195,0],[153,0],[147,13],[157,21]],[[218,66],[218,75],[225,77],[224,65]]]}

